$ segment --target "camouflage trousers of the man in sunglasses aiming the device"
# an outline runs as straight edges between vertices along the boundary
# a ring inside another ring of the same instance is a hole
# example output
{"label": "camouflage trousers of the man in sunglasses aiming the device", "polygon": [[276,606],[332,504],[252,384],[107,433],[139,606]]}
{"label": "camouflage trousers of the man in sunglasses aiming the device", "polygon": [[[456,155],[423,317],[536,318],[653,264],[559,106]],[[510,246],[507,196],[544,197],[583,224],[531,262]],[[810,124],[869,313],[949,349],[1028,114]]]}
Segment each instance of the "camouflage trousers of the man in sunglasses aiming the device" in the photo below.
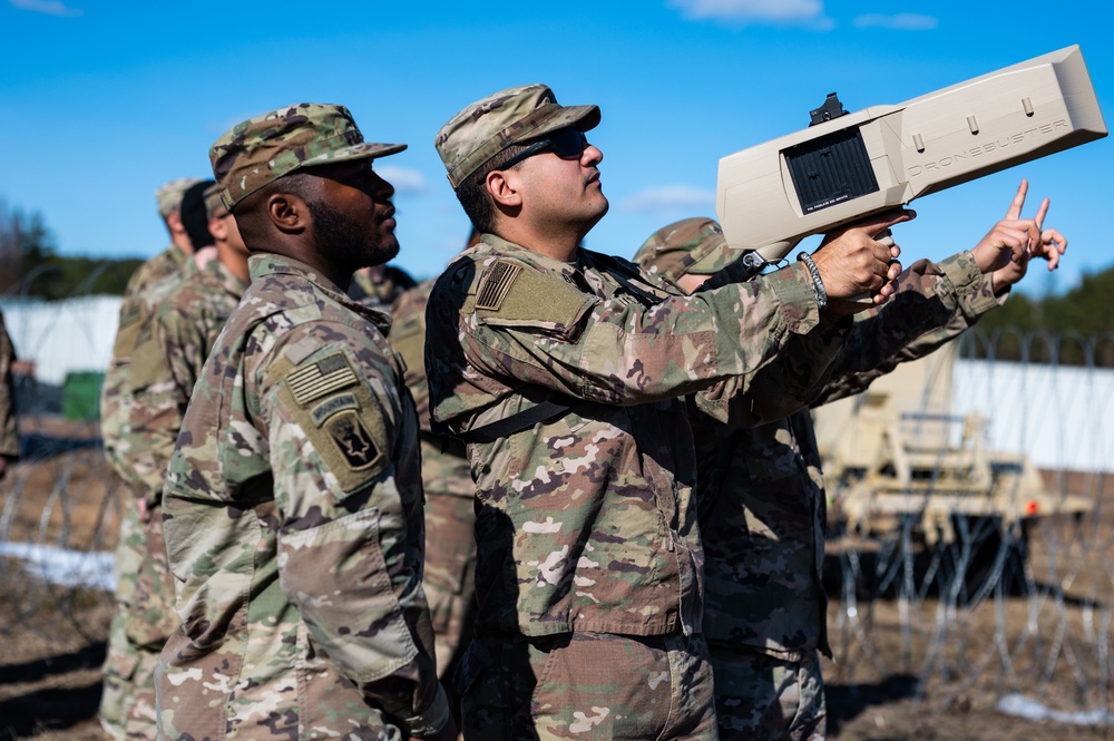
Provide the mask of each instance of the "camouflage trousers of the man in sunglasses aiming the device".
{"label": "camouflage trousers of the man in sunglasses aiming the device", "polygon": [[716,738],[698,635],[477,637],[457,690],[468,741]]}

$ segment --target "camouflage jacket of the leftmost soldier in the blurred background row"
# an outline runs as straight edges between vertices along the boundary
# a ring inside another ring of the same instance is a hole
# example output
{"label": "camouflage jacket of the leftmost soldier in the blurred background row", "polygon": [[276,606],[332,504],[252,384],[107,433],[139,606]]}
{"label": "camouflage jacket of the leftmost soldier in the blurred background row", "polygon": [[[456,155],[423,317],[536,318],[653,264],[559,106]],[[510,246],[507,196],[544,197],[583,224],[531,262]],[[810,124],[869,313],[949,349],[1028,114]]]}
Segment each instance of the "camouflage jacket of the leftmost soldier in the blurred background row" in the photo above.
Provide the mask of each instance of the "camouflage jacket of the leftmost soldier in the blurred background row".
{"label": "camouflage jacket of the leftmost soldier in the blurred background row", "polygon": [[138,484],[129,458],[128,440],[130,394],[127,381],[131,350],[152,306],[158,305],[175,283],[193,270],[194,261],[172,244],[136,270],[120,302],[120,322],[113,343],[113,358],[100,390],[100,436],[108,462],[120,478],[131,485]]}

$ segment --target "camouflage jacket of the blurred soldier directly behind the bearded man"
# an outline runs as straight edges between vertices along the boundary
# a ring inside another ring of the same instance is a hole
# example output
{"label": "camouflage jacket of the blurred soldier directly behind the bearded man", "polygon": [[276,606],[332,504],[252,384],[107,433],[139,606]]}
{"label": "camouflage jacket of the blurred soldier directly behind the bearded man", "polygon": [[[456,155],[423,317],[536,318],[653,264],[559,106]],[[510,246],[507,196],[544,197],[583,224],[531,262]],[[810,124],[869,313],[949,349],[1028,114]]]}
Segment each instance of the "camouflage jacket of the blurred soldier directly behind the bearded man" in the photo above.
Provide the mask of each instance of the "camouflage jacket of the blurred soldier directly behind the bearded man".
{"label": "camouflage jacket of the blurred soldier directly behind the bearded man", "polygon": [[136,338],[128,373],[129,457],[148,510],[162,500],[166,465],[202,364],[246,289],[213,260],[174,284]]}

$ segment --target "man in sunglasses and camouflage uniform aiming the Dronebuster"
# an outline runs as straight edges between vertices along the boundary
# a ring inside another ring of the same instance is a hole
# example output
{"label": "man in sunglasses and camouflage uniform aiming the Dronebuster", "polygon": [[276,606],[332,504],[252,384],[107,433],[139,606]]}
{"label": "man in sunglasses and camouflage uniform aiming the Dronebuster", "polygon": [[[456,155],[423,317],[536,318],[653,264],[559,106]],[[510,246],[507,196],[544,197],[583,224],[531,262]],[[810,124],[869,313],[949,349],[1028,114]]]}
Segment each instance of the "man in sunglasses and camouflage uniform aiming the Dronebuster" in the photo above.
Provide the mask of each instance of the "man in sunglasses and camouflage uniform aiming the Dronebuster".
{"label": "man in sunglasses and camouflage uniform aiming the Dronebuster", "polygon": [[[584,137],[598,121],[531,85],[436,139],[482,234],[438,279],[426,343],[434,430],[468,442],[477,487],[466,738],[715,738],[682,397],[778,419],[842,344],[805,265],[688,298],[582,248],[607,209]],[[890,256],[864,227],[833,236],[820,269],[858,267],[830,279],[830,305],[883,290]]]}

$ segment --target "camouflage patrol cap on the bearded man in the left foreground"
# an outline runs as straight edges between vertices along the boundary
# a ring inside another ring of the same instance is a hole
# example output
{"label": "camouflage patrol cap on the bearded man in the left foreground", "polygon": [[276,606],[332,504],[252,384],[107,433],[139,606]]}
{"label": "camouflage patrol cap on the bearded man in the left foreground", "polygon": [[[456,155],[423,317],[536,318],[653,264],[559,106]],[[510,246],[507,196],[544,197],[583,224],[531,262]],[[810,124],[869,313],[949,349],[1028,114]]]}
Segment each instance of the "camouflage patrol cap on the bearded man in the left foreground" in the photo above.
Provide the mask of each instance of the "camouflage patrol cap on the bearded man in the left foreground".
{"label": "camouflage patrol cap on the bearded man in the left foreground", "polygon": [[228,211],[267,183],[303,167],[385,157],[404,144],[372,144],[344,106],[300,103],[237,124],[213,143],[209,162]]}

